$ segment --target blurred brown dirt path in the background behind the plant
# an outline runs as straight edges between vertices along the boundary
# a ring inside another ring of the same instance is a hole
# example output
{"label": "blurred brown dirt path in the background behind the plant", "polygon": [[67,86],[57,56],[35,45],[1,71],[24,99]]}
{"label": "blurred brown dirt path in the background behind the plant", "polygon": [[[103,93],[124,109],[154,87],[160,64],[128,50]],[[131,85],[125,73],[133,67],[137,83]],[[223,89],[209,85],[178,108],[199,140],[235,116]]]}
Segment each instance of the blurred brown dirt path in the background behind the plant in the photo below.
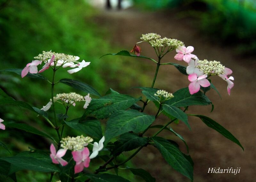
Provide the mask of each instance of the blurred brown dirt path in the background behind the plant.
{"label": "blurred brown dirt path in the background behind the plant", "polygon": [[[255,171],[255,61],[245,60],[236,57],[236,52],[229,47],[220,47],[207,42],[191,26],[189,19],[176,19],[174,13],[142,13],[135,10],[124,11],[102,11],[95,18],[100,25],[104,25],[112,33],[113,45],[121,49],[130,50],[135,42],[139,42],[141,34],[155,32],[162,36],[172,37],[182,40],[185,45],[192,45],[195,48],[194,53],[200,59],[218,60],[226,67],[233,70],[235,86],[231,90],[231,96],[228,96],[227,83],[218,78],[213,78],[213,84],[218,88],[222,99],[217,93],[211,90],[208,97],[213,101],[215,109],[210,113],[211,107],[193,106],[189,108],[189,113],[204,114],[216,120],[218,123],[233,133],[244,146],[243,152],[233,142],[227,140],[219,133],[208,128],[204,123],[196,118],[189,117],[192,130],[180,123],[173,125],[177,133],[180,133],[187,141],[190,152],[194,160],[194,181],[254,181]],[[142,55],[155,57],[154,50],[146,43],[140,44]],[[183,64],[174,60],[175,52],[166,56],[163,62],[174,62]],[[124,58],[126,59],[126,58]],[[133,61],[136,61],[134,63]],[[130,59],[131,66],[136,69],[144,69],[143,74],[147,74],[150,80],[146,81],[147,86],[151,85],[155,72],[155,65],[147,60]],[[134,66],[134,64],[136,66]],[[186,65],[186,64],[183,64]],[[120,68],[121,70],[122,68]],[[138,75],[139,76],[139,72]],[[138,86],[140,81],[134,80],[132,86]],[[155,87],[174,92],[182,87],[187,87],[189,81],[187,77],[181,75],[173,66],[164,66],[160,68],[156,79]],[[128,86],[130,87],[130,86]],[[146,112],[151,110],[149,107]],[[155,111],[154,111],[155,112]],[[161,117],[157,124],[163,124],[167,118]],[[169,133],[170,139],[176,140],[180,148],[185,152],[184,144]],[[138,168],[148,170],[157,181],[189,181],[182,175],[174,171],[162,158],[161,154],[156,152],[153,147],[143,149],[133,163]],[[210,174],[208,168],[216,167],[227,169],[230,167],[241,168],[239,174]]]}

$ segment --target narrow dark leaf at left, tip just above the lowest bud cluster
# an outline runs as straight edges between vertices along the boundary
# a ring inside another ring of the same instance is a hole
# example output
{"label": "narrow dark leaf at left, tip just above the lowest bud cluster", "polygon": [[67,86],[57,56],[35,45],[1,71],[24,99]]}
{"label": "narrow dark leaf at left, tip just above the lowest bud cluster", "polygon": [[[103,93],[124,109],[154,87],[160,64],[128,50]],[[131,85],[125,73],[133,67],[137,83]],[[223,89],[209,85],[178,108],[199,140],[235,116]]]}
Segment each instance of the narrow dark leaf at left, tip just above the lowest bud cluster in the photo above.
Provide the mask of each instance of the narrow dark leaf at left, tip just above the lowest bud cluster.
{"label": "narrow dark leaf at left, tip just above the lowest bud cluster", "polygon": [[34,127],[30,126],[30,125],[24,124],[24,123],[9,123],[9,124],[6,125],[6,127],[17,128],[17,129],[20,129],[20,130],[24,130],[24,131],[26,131],[28,133],[33,133],[33,134],[40,135],[40,136],[49,138],[51,140],[54,140],[48,134],[43,133],[43,132],[37,130],[36,128],[34,128]]}

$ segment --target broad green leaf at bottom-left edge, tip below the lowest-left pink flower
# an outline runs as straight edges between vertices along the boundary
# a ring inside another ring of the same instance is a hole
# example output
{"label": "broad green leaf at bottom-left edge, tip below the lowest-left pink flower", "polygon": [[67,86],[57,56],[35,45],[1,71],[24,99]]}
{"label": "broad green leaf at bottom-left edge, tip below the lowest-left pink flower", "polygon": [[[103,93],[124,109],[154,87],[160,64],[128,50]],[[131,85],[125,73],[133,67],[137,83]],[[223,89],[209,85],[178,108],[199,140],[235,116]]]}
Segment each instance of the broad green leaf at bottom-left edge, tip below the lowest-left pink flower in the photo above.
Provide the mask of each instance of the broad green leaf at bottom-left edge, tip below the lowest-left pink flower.
{"label": "broad green leaf at bottom-left edge, tip below the lowest-left pink flower", "polygon": [[60,171],[55,165],[44,162],[43,160],[39,160],[32,157],[1,157],[1,160],[7,161],[20,168],[20,170],[31,170],[31,171],[41,171],[41,172],[52,172],[52,171]]}

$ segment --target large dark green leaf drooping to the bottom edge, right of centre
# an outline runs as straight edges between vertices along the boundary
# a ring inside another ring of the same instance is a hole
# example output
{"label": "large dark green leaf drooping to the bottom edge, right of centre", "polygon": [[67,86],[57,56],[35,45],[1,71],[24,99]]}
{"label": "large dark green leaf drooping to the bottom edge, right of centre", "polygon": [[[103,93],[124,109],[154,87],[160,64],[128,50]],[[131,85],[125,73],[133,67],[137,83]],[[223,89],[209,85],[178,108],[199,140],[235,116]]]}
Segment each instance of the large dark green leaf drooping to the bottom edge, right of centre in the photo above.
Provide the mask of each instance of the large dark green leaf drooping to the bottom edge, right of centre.
{"label": "large dark green leaf drooping to the bottom edge, right of centre", "polygon": [[152,137],[156,148],[163,155],[164,159],[173,169],[179,171],[184,176],[193,181],[193,166],[179,148],[161,137]]}

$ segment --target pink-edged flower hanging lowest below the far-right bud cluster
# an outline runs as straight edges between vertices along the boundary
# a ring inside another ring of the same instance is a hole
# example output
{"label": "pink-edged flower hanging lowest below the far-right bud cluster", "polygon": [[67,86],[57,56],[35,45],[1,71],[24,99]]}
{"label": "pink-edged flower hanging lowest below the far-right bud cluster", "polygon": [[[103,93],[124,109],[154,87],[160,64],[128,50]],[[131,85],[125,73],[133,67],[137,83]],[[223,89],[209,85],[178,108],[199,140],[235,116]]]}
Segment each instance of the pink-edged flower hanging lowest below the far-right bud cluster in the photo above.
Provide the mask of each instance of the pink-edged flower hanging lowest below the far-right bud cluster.
{"label": "pink-edged flower hanging lowest below the far-right bud cluster", "polygon": [[196,73],[188,75],[188,80],[191,81],[191,83],[188,86],[189,93],[191,95],[197,93],[200,90],[200,86],[209,87],[211,83],[206,78],[207,74],[199,76],[198,78],[196,76]]}

